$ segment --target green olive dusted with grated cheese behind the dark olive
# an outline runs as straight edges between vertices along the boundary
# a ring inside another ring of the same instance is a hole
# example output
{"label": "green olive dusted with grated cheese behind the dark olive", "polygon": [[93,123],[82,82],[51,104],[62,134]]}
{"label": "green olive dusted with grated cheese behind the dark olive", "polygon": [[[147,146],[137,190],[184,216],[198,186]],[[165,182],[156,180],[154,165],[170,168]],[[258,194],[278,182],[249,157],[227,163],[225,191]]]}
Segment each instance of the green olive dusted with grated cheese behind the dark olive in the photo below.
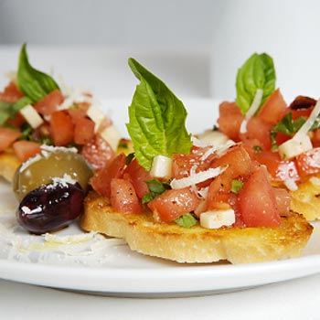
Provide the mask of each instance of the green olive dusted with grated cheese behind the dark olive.
{"label": "green olive dusted with grated cheese behind the dark olive", "polygon": [[67,148],[48,148],[17,168],[13,190],[21,201],[31,190],[50,184],[53,178],[69,176],[86,191],[92,175],[91,166],[82,155]]}

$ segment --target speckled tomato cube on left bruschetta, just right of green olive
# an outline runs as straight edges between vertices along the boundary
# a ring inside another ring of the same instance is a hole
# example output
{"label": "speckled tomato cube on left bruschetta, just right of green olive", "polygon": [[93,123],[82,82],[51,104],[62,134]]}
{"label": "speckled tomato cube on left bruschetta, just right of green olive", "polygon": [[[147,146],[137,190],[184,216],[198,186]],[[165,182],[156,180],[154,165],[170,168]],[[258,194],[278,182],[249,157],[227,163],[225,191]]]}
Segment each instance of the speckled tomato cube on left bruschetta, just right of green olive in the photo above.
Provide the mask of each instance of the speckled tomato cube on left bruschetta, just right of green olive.
{"label": "speckled tomato cube on left bruschetta, just right of green olive", "polygon": [[108,144],[101,135],[97,134],[90,143],[83,145],[81,155],[97,170],[101,170],[111,163],[115,152],[110,144]]}

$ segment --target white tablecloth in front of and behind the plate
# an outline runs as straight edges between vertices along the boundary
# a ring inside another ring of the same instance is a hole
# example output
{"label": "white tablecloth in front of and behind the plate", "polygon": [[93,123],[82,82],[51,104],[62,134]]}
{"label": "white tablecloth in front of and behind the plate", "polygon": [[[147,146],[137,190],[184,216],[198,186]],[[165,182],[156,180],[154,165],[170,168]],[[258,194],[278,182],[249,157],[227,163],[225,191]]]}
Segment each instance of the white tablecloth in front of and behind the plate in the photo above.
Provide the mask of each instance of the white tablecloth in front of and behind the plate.
{"label": "white tablecloth in front of and behind the plate", "polygon": [[[0,47],[1,75],[16,69],[18,49]],[[52,66],[56,76],[101,98],[130,102],[136,84],[126,65],[130,56],[152,66],[179,97],[209,94],[208,48],[30,46],[28,52],[38,69]],[[2,77],[0,84],[5,84]],[[320,275],[234,293],[170,299],[96,296],[0,280],[0,297],[1,319],[320,319]]]}

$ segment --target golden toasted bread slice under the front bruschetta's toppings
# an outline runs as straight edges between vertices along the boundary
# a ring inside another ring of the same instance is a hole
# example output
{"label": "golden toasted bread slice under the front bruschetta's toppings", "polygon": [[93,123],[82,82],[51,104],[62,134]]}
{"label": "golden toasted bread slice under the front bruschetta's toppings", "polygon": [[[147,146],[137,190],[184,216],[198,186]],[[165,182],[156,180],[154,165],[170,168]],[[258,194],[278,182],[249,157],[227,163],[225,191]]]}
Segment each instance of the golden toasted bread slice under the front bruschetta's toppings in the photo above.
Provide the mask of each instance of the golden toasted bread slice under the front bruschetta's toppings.
{"label": "golden toasted bread slice under the front bruschetta's toppings", "polygon": [[176,223],[157,223],[151,212],[117,212],[107,198],[95,192],[85,200],[80,226],[123,238],[133,251],[178,262],[246,263],[292,258],[300,254],[313,231],[302,215],[293,212],[282,218],[279,228],[186,229]]}

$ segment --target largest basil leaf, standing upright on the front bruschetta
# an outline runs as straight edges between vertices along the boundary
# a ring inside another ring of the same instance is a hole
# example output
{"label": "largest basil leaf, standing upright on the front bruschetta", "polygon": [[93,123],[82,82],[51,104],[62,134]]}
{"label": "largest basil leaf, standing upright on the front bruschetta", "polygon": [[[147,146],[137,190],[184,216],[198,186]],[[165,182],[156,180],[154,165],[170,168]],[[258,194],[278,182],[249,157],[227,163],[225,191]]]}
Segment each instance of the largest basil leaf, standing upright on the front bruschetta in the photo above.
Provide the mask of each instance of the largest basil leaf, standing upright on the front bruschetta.
{"label": "largest basil leaf, standing upright on the front bruschetta", "polygon": [[156,155],[188,154],[191,135],[187,133],[187,111],[182,101],[162,80],[134,59],[129,59],[133,74],[140,80],[129,106],[128,133],[135,157],[150,170]]}

